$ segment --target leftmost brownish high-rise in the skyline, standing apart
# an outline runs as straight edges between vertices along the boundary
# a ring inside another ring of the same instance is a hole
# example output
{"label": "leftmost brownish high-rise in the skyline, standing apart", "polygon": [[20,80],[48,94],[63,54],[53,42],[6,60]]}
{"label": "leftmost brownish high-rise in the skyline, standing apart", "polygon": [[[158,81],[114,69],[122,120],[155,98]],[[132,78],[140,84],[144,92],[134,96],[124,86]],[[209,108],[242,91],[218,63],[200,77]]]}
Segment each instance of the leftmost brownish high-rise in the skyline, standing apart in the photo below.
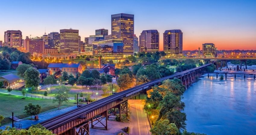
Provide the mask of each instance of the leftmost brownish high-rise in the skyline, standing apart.
{"label": "leftmost brownish high-rise in the skyline, standing apart", "polygon": [[21,48],[22,32],[20,30],[8,30],[5,32],[5,46]]}

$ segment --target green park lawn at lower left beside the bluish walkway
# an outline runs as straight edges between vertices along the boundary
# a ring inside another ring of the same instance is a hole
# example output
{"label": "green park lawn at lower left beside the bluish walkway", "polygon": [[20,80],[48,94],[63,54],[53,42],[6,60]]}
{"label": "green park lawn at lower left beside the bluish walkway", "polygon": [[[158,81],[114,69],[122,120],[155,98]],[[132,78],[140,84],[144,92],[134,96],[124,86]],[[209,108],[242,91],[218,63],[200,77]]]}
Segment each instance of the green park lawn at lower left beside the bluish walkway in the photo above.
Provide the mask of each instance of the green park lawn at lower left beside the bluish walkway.
{"label": "green park lawn at lower left beside the bluish walkway", "polygon": [[[42,112],[58,109],[58,103],[52,103],[52,99],[42,99],[42,98],[29,98],[22,99],[22,96],[8,95],[0,93],[0,115],[3,115],[5,119],[2,122],[2,125],[8,124],[11,122],[9,117],[11,116],[11,112],[14,112],[15,116],[19,116],[20,119],[28,117],[24,113],[24,107],[28,103],[39,104],[42,107]],[[74,100],[70,100],[68,103],[63,103],[61,108],[74,106]]]}

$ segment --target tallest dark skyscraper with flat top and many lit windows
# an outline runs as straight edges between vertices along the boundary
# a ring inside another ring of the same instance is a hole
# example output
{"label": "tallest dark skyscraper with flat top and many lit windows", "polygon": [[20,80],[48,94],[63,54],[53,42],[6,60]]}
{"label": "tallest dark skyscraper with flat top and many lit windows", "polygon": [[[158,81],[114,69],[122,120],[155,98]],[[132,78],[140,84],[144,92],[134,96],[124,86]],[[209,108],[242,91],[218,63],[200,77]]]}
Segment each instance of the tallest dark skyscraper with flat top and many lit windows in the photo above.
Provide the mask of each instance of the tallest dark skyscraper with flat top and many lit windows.
{"label": "tallest dark skyscraper with flat top and many lit windows", "polygon": [[123,40],[123,54],[133,55],[134,15],[119,13],[111,15],[111,35]]}

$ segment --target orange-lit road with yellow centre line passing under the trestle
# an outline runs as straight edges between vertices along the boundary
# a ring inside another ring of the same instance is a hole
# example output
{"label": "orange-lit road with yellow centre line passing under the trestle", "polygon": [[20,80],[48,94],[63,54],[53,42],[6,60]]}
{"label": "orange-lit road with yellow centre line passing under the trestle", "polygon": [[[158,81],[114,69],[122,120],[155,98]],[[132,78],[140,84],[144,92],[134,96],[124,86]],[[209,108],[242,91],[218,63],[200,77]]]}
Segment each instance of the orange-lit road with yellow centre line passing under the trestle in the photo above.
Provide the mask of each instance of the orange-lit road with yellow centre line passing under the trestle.
{"label": "orange-lit road with yellow centre line passing under the trestle", "polygon": [[143,111],[144,100],[128,100],[130,104],[130,134],[151,135],[148,118]]}

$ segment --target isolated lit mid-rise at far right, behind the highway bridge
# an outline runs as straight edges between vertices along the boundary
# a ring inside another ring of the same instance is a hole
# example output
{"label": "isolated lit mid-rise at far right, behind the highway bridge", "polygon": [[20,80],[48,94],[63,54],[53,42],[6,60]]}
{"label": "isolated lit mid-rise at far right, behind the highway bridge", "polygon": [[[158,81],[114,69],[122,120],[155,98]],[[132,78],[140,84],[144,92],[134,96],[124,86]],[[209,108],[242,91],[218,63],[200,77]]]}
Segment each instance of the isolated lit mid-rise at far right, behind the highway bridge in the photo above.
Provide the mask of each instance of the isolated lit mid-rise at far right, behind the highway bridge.
{"label": "isolated lit mid-rise at far right, behind the highway bridge", "polygon": [[203,44],[203,58],[216,58],[217,48],[212,43]]}

